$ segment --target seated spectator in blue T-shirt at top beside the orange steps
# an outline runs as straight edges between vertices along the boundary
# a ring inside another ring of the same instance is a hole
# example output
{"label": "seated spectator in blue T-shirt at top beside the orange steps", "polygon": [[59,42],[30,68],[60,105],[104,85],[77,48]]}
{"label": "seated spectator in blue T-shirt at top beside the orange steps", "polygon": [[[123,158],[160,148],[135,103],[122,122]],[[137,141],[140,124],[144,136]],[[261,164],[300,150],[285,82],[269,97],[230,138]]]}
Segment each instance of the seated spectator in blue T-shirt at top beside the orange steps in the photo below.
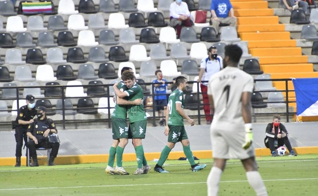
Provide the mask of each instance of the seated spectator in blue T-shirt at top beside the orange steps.
{"label": "seated spectator in blue T-shirt at top beside the orange steps", "polygon": [[[229,13],[231,15],[229,15]],[[230,0],[213,0],[211,2],[210,24],[219,33],[220,23],[236,27],[236,17]]]}

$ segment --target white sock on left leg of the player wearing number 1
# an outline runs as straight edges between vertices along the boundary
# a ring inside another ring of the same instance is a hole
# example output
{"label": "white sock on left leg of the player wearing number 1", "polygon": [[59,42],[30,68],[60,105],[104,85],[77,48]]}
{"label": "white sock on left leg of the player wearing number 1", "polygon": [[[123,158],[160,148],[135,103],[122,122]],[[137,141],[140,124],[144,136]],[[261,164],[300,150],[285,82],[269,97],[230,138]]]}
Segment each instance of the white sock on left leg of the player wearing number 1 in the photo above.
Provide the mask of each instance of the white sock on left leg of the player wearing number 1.
{"label": "white sock on left leg of the player wearing number 1", "polygon": [[208,196],[218,195],[221,175],[222,170],[219,167],[212,167],[206,181]]}

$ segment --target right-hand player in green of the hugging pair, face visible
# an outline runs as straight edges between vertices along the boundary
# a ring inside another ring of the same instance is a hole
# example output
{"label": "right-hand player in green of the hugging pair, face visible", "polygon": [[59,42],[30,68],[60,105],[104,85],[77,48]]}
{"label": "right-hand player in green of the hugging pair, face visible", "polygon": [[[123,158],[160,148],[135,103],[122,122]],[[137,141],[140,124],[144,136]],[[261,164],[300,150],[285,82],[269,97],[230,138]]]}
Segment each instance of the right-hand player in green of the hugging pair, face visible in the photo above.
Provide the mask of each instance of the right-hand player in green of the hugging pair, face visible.
{"label": "right-hand player in green of the hugging pair, face visible", "polygon": [[[143,98],[144,93],[142,87],[135,82],[135,76],[133,73],[124,71],[121,78],[128,90],[118,89],[115,84],[114,90],[118,97],[127,97],[130,101]],[[147,117],[143,104],[129,105],[127,107],[127,114],[129,118],[130,136],[133,138],[133,145],[136,150],[138,163],[138,168],[134,174],[147,174],[150,170],[150,166],[147,164],[147,160],[144,155],[144,148],[142,146],[142,139],[145,138],[147,127]]]}

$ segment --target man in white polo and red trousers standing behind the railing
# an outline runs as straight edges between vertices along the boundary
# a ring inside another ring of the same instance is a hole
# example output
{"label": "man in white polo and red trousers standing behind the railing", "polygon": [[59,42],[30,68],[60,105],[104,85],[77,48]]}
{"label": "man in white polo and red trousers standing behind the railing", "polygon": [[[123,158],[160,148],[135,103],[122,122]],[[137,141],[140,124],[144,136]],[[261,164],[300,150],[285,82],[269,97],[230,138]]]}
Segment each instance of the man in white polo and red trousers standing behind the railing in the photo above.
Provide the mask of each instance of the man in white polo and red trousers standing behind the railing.
{"label": "man in white polo and red trousers standing behind the railing", "polygon": [[215,46],[211,46],[208,49],[208,57],[201,60],[199,78],[197,82],[200,83],[200,88],[203,98],[203,110],[205,114],[206,124],[211,124],[213,119],[213,111],[210,109],[209,100],[207,96],[207,85],[209,78],[219,72],[223,68],[223,59],[218,56],[218,49]]}

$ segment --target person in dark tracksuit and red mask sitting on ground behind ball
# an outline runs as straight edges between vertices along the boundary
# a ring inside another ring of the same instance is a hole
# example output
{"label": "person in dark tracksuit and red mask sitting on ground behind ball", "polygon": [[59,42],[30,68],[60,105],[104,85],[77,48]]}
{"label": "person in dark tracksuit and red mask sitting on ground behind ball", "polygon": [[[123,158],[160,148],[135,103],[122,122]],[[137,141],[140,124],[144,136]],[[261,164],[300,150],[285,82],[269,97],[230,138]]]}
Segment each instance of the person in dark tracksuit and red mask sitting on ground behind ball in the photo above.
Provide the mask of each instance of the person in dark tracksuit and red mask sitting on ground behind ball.
{"label": "person in dark tracksuit and red mask sitting on ground behind ball", "polygon": [[288,132],[283,124],[280,123],[280,116],[274,115],[273,122],[266,127],[266,137],[272,156],[277,156],[276,149],[280,146],[286,146],[289,151],[288,156],[297,156],[288,139]]}

